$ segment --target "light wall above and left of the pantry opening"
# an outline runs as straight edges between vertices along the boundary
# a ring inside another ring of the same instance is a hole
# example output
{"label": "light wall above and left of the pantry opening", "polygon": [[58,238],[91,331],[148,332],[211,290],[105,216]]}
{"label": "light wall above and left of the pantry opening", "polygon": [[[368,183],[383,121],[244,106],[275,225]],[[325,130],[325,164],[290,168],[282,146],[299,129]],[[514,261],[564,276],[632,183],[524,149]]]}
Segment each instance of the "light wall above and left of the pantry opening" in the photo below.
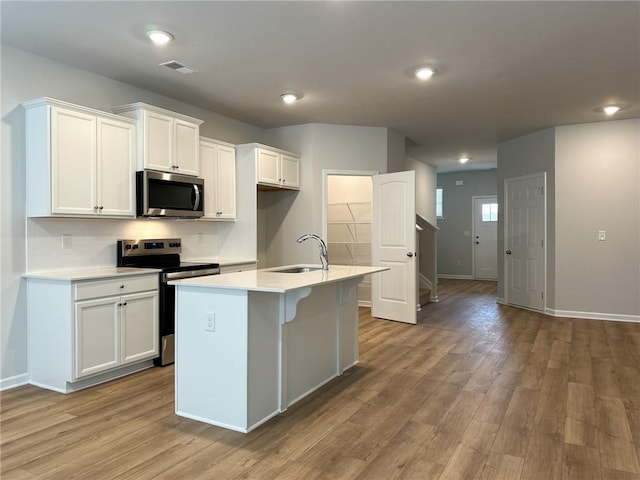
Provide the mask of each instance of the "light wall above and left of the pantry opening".
{"label": "light wall above and left of the pantry opening", "polygon": [[[265,130],[263,143],[302,155],[298,193],[264,192],[269,206],[260,210],[267,231],[269,266],[318,263],[317,246],[297,244],[304,233],[322,234],[323,170],[387,172],[387,129],[307,124]],[[260,200],[259,200],[260,201]],[[259,232],[260,234],[260,232]],[[259,242],[260,243],[260,242]]]}

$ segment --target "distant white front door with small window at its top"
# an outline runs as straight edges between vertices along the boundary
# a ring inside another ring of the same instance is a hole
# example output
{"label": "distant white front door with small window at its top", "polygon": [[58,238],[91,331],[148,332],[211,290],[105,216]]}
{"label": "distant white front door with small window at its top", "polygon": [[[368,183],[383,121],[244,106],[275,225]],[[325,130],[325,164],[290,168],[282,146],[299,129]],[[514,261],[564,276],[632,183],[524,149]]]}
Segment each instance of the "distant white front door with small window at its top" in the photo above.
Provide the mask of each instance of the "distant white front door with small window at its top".
{"label": "distant white front door with small window at its top", "polygon": [[498,279],[498,197],[473,197],[473,278]]}

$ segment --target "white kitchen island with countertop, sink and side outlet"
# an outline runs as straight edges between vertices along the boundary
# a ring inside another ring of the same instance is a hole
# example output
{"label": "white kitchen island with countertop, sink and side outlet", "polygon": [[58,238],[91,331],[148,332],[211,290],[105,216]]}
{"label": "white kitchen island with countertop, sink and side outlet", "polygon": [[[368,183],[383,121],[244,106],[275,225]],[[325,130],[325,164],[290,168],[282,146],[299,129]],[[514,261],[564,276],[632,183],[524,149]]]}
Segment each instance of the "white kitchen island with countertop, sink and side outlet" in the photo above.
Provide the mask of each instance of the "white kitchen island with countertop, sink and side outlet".
{"label": "white kitchen island with countertop, sink and side outlet", "polygon": [[246,433],[358,362],[357,285],[387,268],[308,268],[171,282],[176,414]]}

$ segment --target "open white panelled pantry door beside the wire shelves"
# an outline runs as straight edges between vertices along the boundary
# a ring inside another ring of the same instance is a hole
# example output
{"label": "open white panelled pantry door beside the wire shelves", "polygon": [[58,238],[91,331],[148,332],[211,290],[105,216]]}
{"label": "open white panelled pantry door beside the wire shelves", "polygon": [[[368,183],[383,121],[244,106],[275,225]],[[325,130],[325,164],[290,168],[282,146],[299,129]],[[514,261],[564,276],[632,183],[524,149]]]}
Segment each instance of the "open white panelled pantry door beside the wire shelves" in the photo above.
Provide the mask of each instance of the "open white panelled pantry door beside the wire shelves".
{"label": "open white panelled pantry door beside the wire shelves", "polygon": [[388,271],[372,275],[374,317],[417,321],[415,172],[373,177],[371,256]]}

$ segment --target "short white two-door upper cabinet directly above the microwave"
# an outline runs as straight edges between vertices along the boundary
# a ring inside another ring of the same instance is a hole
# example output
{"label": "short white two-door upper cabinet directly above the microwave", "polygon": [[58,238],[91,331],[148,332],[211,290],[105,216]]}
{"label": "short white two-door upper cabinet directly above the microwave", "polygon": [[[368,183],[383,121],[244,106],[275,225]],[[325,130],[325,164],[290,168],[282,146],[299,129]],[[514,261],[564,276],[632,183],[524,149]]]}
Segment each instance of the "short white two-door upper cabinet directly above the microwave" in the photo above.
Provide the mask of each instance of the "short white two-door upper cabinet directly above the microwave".
{"label": "short white two-door upper cabinet directly above the microwave", "polygon": [[200,175],[202,120],[145,103],[115,107],[138,122],[138,170]]}

